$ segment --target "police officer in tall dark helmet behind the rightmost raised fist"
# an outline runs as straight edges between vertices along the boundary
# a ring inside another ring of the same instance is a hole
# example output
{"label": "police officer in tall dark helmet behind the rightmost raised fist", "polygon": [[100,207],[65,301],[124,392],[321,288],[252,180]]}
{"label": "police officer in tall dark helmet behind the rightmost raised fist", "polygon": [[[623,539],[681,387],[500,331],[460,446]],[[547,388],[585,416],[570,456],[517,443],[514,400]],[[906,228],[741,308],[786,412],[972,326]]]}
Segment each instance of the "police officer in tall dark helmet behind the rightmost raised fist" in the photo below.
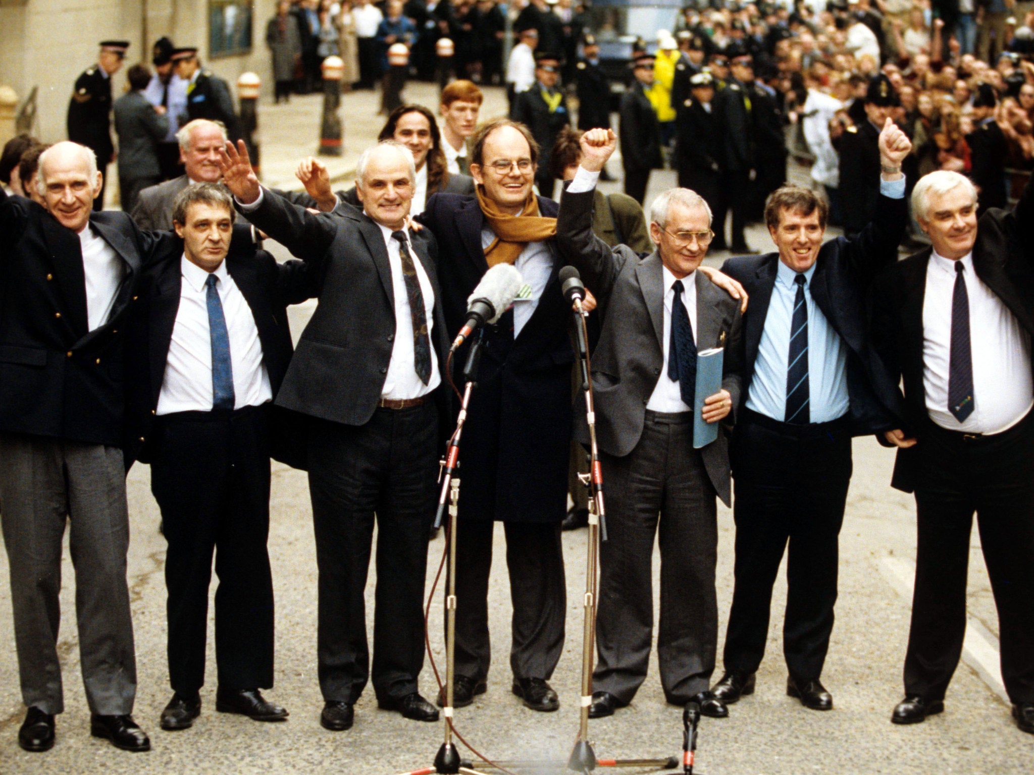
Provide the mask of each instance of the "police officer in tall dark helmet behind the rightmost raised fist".
{"label": "police officer in tall dark helmet behind the rightmost raised fist", "polygon": [[880,194],[880,129],[901,101],[890,80],[880,73],[865,92],[865,120],[841,135],[840,192],[845,204],[844,235],[852,239],[873,219]]}

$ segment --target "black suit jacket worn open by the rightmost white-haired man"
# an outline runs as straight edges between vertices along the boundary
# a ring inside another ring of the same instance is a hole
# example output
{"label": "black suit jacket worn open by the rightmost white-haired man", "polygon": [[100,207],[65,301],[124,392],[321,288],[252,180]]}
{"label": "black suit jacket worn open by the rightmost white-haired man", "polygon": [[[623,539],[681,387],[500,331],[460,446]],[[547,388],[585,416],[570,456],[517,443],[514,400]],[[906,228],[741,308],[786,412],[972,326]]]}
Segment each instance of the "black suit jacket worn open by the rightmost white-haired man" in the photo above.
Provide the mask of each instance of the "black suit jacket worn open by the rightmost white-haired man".
{"label": "black suit jacket worn open by the rightmost white-haired man", "polygon": [[[873,345],[895,390],[905,388],[907,436],[919,439],[932,421],[923,386],[922,307],[932,249],[891,266],[873,288]],[[1034,335],[1034,187],[1030,183],[1015,210],[992,209],[980,216],[973,246],[973,269],[1029,335]],[[918,445],[899,450],[891,487],[916,486]]]}

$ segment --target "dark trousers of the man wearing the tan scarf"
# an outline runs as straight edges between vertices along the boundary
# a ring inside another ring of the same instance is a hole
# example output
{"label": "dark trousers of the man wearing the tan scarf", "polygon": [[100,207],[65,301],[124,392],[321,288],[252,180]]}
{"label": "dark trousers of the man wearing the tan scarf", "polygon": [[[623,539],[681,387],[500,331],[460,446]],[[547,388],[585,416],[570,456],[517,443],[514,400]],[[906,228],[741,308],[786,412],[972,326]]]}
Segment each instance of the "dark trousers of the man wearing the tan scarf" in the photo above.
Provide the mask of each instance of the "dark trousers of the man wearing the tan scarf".
{"label": "dark trousers of the man wearing the tan scarf", "polygon": [[[462,520],[456,531],[456,673],[488,678],[488,577],[492,569],[489,520]],[[567,587],[559,522],[504,522],[510,571],[510,669],[514,678],[553,675],[564,650]]]}

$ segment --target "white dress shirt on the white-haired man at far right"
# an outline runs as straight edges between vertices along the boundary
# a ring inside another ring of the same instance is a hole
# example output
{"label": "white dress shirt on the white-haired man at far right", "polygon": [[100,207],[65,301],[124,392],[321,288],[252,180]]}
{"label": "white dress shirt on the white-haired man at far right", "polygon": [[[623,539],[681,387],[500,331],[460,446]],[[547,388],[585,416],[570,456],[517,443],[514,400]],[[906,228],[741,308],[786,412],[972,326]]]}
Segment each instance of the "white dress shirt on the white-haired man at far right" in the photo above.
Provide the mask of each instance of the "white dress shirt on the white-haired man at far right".
{"label": "white dress shirt on the white-haired man at far right", "polygon": [[1023,420],[1034,405],[1031,339],[1001,299],[973,271],[973,254],[960,258],[966,268],[973,363],[973,412],[960,423],[948,411],[951,361],[951,302],[955,261],[936,252],[926,265],[922,303],[922,382],[926,411],[941,428],[968,433],[1000,433]]}

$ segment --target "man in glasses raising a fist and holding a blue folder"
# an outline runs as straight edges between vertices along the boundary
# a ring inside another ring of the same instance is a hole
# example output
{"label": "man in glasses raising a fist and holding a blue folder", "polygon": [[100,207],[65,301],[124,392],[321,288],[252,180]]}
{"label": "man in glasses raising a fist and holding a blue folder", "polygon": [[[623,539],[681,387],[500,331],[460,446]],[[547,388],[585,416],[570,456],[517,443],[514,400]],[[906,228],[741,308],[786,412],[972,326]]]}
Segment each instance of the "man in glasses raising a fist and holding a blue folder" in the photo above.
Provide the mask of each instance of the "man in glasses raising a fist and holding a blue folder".
{"label": "man in glasses raising a fist and holding a blue folder", "polygon": [[[642,260],[592,236],[592,188],[617,145],[587,132],[578,174],[564,194],[558,242],[603,310],[592,352],[598,441],[607,488],[609,538],[600,547],[599,661],[589,716],[627,706],[646,678],[653,630],[651,556],[661,541],[658,657],[669,703],[696,702],[728,715],[709,682],[718,647],[718,522],[714,496],[731,500],[725,429],[694,445],[697,352],[725,347],[722,389],[706,399],[708,423],[730,419],[739,400],[739,304],[697,269],[707,252],[710,211],[675,188],[650,206],[657,250]],[[579,435],[588,441],[579,413]]]}

